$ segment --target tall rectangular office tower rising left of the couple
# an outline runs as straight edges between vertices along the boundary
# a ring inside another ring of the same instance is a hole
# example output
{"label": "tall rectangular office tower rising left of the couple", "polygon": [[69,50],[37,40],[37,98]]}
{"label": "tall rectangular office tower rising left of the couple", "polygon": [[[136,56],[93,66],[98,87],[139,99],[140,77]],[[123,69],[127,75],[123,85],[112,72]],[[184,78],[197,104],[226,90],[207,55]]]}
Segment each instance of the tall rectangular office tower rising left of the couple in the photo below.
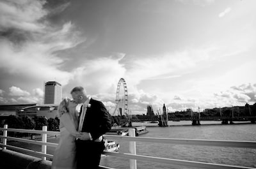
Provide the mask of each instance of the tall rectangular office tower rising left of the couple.
{"label": "tall rectangular office tower rising left of the couple", "polygon": [[58,82],[46,82],[44,84],[44,104],[60,104],[61,98],[61,84]]}

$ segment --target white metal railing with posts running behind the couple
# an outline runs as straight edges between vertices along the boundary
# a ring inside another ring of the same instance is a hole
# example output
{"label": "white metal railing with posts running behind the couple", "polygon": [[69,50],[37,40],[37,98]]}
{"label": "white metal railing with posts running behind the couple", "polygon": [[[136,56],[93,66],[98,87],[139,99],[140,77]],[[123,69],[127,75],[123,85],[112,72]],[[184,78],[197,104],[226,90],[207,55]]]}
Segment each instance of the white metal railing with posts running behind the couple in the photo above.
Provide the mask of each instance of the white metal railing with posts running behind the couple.
{"label": "white metal railing with posts running behind the couple", "polygon": [[[52,154],[47,154],[47,146],[49,147],[57,147],[57,143],[49,143],[47,142],[47,135],[60,135],[60,132],[56,131],[47,131],[47,126],[44,126],[42,131],[32,130],[32,129],[11,129],[8,128],[7,125],[4,125],[4,128],[0,128],[0,131],[3,131],[3,136],[0,138],[3,139],[3,142],[0,143],[0,147],[3,149],[11,148],[18,151],[29,152],[31,154],[35,154],[37,156],[42,156],[42,159],[53,158]],[[42,135],[41,141],[28,140],[24,138],[15,138],[7,136],[7,131],[15,131],[20,133],[37,133]],[[217,147],[236,147],[236,148],[249,148],[256,149],[256,142],[245,142],[245,141],[225,141],[225,140],[195,140],[195,139],[180,139],[180,138],[149,138],[149,137],[138,137],[135,136],[135,129],[129,129],[129,136],[117,136],[117,135],[104,135],[108,140],[125,140],[129,141],[129,152],[130,153],[120,153],[120,152],[108,152],[104,151],[102,154],[106,154],[109,156],[115,156],[118,158],[126,158],[130,159],[130,168],[136,169],[137,163],[136,160],[144,160],[144,161],[152,161],[156,163],[166,163],[170,165],[179,165],[179,166],[190,166],[196,168],[227,168],[227,169],[238,169],[238,168],[247,168],[253,169],[251,167],[246,166],[233,166],[233,165],[221,165],[216,163],[205,163],[199,161],[187,161],[182,159],[170,159],[170,158],[158,158],[152,156],[143,156],[136,154],[136,142],[154,142],[154,143],[172,143],[179,145],[198,145],[198,146],[217,146]],[[42,152],[36,152],[28,149],[23,149],[20,147],[15,147],[7,144],[8,140],[15,140],[19,142],[26,143],[35,143],[38,145],[42,145]],[[254,168],[255,169],[255,168]]]}

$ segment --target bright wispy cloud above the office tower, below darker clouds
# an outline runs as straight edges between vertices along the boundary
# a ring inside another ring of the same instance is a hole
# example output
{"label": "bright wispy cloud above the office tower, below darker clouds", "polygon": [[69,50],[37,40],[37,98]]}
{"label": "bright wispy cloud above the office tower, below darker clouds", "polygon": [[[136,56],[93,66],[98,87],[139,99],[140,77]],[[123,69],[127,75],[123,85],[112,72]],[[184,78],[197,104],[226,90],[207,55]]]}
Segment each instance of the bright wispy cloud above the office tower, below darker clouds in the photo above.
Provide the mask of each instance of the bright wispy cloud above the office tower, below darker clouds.
{"label": "bright wispy cloud above the office tower, below darker clouds", "polygon": [[69,36],[72,27],[72,24],[68,22],[63,25],[62,29],[42,34],[36,41],[27,40],[18,50],[8,40],[0,40],[0,46],[3,49],[0,68],[10,74],[29,75],[29,78],[34,78],[34,80],[58,78],[61,84],[67,84],[72,74],[60,70],[64,60],[54,55],[54,52],[74,47],[77,44],[74,42],[76,40],[72,40],[74,36]]}

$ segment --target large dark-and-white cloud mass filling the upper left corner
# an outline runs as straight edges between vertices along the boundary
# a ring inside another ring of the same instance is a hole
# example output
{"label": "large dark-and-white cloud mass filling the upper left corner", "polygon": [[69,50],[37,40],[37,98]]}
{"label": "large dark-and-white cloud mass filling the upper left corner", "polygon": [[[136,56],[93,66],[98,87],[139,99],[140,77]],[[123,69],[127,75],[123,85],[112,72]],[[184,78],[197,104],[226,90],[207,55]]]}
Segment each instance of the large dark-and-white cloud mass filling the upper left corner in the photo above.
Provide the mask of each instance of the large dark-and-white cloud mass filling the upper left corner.
{"label": "large dark-and-white cloud mass filling the upper left corner", "polygon": [[[46,10],[45,3],[34,0],[0,2],[1,78],[15,76],[28,84],[54,79],[62,85],[73,78],[72,73],[63,70],[67,58],[56,52],[76,47],[86,38],[76,31],[72,22],[62,25],[49,22],[47,17],[56,11],[54,8]],[[65,3],[56,8],[61,12],[67,6]]]}

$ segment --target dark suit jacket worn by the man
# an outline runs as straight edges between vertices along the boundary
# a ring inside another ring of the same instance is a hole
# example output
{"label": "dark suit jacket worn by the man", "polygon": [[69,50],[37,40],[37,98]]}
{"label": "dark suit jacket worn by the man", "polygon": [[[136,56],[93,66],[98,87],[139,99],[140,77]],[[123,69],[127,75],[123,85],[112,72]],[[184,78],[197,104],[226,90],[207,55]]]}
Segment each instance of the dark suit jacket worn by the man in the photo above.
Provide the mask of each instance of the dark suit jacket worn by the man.
{"label": "dark suit jacket worn by the man", "polygon": [[84,116],[82,132],[90,133],[93,140],[96,140],[111,129],[112,117],[101,101],[91,98],[90,105]]}

